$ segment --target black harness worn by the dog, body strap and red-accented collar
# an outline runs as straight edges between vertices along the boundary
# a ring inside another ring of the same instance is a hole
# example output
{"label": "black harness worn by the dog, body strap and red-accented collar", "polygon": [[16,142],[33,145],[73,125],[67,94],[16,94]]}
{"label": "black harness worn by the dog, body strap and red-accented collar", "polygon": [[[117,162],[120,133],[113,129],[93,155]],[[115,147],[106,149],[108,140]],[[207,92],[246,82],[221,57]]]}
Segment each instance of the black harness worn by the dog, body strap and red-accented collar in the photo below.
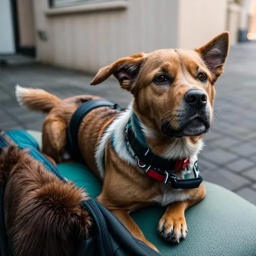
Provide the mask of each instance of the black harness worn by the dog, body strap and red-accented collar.
{"label": "black harness worn by the dog, body strap and red-accented collar", "polygon": [[[67,130],[67,148],[72,157],[79,161],[83,161],[77,141],[80,124],[86,114],[92,109],[101,106],[109,106],[113,109],[121,110],[117,104],[113,104],[105,99],[95,99],[80,105],[71,117]],[[193,163],[192,170],[188,171],[189,158],[164,159],[155,155],[148,147],[138,141],[132,130],[130,121],[126,126],[125,140],[126,148],[130,155],[136,160],[137,165],[150,177],[164,182],[164,184],[170,183],[174,189],[197,188],[202,182],[197,161]],[[113,141],[112,146],[114,148]],[[129,146],[132,151],[129,149]],[[185,172],[185,178],[180,179],[178,175],[173,173],[173,170],[183,170]]]}

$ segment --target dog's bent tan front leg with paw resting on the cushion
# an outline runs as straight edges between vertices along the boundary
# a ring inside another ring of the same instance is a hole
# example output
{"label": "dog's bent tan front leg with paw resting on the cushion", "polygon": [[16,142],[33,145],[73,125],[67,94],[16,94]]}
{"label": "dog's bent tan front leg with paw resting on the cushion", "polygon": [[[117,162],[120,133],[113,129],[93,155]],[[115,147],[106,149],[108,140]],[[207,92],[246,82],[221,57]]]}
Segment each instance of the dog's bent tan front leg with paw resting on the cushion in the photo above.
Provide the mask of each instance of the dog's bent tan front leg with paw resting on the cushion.
{"label": "dog's bent tan front leg with paw resting on the cushion", "polygon": [[191,199],[173,202],[168,205],[159,221],[158,231],[167,241],[179,242],[181,238],[185,238],[187,227],[184,211],[204,198],[204,184],[201,183],[198,188],[191,189],[189,193]]}

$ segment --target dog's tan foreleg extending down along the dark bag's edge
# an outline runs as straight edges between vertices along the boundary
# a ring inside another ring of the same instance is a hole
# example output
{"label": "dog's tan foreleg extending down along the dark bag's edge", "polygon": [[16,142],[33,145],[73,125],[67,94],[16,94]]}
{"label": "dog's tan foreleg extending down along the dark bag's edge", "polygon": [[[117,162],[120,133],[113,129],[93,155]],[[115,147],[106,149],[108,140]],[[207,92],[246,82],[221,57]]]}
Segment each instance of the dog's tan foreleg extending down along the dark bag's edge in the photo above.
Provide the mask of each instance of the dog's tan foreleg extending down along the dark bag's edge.
{"label": "dog's tan foreleg extending down along the dark bag's edge", "polygon": [[156,247],[145,238],[142,231],[140,230],[140,228],[137,226],[137,224],[134,222],[134,220],[131,218],[127,211],[111,210],[111,212],[123,223],[123,225],[131,232],[131,234],[134,237],[138,238],[152,249],[158,251]]}

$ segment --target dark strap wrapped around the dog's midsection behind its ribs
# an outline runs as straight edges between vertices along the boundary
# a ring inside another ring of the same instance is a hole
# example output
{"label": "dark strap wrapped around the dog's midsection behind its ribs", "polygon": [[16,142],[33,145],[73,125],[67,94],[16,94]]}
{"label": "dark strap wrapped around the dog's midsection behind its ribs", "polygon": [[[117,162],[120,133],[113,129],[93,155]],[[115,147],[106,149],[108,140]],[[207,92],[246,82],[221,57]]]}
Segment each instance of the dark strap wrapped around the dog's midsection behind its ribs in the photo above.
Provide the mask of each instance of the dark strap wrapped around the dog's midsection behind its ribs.
{"label": "dark strap wrapped around the dog's midsection behind its ribs", "polygon": [[81,104],[73,113],[69,127],[67,129],[67,148],[70,155],[76,160],[83,161],[80,149],[78,146],[78,130],[81,122],[86,114],[88,114],[92,109],[101,106],[109,106],[113,109],[121,110],[121,107],[117,104],[111,103],[105,99],[93,99]]}

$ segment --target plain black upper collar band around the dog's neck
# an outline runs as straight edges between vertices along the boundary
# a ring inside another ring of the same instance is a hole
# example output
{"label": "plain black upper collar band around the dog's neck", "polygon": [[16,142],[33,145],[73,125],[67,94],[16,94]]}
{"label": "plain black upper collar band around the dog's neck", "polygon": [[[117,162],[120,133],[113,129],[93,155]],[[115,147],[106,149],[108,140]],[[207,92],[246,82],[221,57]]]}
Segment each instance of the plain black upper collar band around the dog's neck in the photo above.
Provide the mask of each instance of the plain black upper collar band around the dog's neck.
{"label": "plain black upper collar band around the dog's neck", "polygon": [[153,168],[160,168],[162,170],[174,170],[177,159],[164,159],[158,155],[155,155],[151,150],[148,150],[147,147],[141,145],[135,137],[135,134],[131,127],[128,128],[128,140],[132,150],[139,160],[146,164],[150,165]]}

